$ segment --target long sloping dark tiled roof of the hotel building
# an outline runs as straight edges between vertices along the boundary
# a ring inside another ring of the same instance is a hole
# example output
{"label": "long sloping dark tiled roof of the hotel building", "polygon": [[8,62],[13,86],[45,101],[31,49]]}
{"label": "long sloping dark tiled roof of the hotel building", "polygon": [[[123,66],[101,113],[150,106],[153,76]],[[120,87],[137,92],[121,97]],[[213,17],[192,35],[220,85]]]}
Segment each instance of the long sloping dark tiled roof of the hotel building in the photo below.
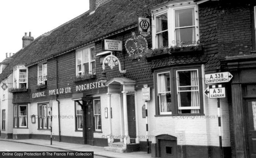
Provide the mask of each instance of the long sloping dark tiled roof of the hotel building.
{"label": "long sloping dark tiled roof of the hotel building", "polygon": [[89,12],[76,17],[60,27],[39,36],[29,46],[15,54],[18,58],[0,74],[6,78],[16,64],[31,64],[71,48],[89,43],[110,33],[137,24],[138,16],[145,16],[148,9],[167,0],[110,0]]}

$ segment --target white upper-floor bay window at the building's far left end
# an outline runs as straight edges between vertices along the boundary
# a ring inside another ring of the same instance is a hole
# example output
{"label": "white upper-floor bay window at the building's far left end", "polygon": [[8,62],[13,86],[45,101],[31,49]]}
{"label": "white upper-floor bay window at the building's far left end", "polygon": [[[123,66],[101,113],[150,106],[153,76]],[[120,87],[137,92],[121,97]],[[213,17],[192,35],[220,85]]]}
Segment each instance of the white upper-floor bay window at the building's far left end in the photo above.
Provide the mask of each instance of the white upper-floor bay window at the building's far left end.
{"label": "white upper-floor bay window at the building's far left end", "polygon": [[14,68],[14,88],[27,88],[27,67],[25,66],[16,66]]}

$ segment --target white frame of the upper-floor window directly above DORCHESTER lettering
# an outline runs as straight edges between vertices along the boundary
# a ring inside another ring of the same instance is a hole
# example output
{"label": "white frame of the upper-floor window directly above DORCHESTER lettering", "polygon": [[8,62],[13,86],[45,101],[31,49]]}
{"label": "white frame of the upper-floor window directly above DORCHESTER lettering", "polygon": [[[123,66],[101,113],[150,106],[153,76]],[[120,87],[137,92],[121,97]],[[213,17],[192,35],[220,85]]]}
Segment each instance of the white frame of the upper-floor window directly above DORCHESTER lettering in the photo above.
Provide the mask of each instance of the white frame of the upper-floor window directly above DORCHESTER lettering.
{"label": "white frame of the upper-floor window directly above DORCHESTER lettering", "polygon": [[[91,60],[91,48],[94,48],[94,60]],[[83,50],[88,49],[88,62],[83,62]],[[81,56],[78,56],[78,52],[81,52]],[[83,75],[84,73],[84,67],[83,64],[85,63],[89,63],[89,74],[92,74],[92,67],[91,67],[91,62],[95,63],[95,68],[96,68],[96,62],[95,62],[95,57],[96,57],[96,52],[95,52],[95,46],[91,46],[91,47],[83,47],[83,48],[79,48],[78,50],[76,50],[76,76],[79,76],[79,73],[81,73]],[[81,59],[81,71],[78,71],[78,62],[77,59]],[[96,73],[96,71],[95,71]],[[94,73],[94,74],[95,74]]]}

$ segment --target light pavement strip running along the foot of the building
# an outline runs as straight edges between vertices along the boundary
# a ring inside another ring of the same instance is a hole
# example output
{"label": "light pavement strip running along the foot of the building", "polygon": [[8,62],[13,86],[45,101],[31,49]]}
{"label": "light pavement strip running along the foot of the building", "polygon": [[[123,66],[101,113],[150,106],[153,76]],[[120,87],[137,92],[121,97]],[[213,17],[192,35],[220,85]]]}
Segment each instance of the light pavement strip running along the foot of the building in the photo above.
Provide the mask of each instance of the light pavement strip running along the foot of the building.
{"label": "light pavement strip running along the foot of the building", "polygon": [[42,140],[42,139],[0,138],[0,141],[26,143],[31,145],[52,147],[52,148],[68,150],[68,151],[93,151],[94,155],[108,157],[108,158],[151,158],[151,154],[147,154],[147,152],[143,152],[143,151],[137,151],[137,152],[131,152],[131,153],[116,153],[112,151],[106,151],[104,150],[103,147],[100,147],[100,146],[81,145],[81,144],[65,143],[65,142],[57,142],[57,141],[52,141],[52,145],[50,145],[49,140]]}

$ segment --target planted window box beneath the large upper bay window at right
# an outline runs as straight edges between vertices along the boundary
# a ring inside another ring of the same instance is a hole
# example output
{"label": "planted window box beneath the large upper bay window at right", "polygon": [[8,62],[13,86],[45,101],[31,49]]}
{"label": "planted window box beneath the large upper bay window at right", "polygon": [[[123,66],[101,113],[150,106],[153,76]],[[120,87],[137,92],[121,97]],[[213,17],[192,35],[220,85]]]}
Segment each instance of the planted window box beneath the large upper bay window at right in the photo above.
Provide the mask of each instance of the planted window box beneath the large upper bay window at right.
{"label": "planted window box beneath the large upper bay window at right", "polygon": [[174,56],[174,55],[192,55],[192,54],[197,54],[202,52],[202,46],[188,46],[181,48],[181,50],[172,50],[170,52],[168,51],[159,51],[155,52],[155,54],[147,54],[147,61],[151,62],[153,59],[162,59],[163,57],[168,57],[168,56]]}

